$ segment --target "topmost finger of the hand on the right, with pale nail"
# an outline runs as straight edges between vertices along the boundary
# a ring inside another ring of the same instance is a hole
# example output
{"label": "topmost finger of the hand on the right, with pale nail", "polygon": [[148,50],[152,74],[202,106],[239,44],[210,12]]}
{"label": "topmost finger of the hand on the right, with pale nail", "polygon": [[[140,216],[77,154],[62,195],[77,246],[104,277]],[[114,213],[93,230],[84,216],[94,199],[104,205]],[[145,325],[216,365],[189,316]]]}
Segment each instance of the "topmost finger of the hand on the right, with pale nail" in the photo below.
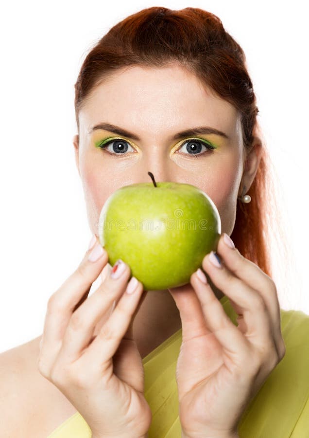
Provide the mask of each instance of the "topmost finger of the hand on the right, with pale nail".
{"label": "topmost finger of the hand on the right, with pale nail", "polygon": [[[224,265],[235,274],[235,276],[239,277],[263,297],[270,315],[270,324],[275,338],[275,344],[280,352],[280,350],[284,348],[284,342],[281,333],[280,304],[275,283],[272,278],[265,274],[255,263],[242,256],[235,247],[229,247],[226,241],[228,241],[228,238],[225,240],[223,234],[220,237],[217,252],[223,259]],[[231,301],[231,305],[234,310],[239,313],[240,308],[237,306],[237,303]]]}

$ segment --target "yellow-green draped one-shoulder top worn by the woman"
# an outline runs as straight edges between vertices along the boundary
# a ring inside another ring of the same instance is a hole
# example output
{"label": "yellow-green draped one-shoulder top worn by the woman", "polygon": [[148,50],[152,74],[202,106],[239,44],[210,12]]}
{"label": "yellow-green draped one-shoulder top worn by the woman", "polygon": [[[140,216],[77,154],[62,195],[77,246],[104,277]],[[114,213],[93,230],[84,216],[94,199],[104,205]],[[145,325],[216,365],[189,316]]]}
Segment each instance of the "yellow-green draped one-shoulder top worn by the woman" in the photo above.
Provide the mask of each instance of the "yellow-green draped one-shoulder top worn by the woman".
{"label": "yellow-green draped one-shoulder top worn by the woman", "polygon": [[[228,297],[220,302],[237,326]],[[243,413],[240,438],[309,437],[309,315],[299,310],[280,312],[286,354]],[[175,380],[181,341],[182,329],[143,359],[145,398],[153,414],[149,438],[181,438]],[[89,426],[76,412],[48,438],[90,437]]]}

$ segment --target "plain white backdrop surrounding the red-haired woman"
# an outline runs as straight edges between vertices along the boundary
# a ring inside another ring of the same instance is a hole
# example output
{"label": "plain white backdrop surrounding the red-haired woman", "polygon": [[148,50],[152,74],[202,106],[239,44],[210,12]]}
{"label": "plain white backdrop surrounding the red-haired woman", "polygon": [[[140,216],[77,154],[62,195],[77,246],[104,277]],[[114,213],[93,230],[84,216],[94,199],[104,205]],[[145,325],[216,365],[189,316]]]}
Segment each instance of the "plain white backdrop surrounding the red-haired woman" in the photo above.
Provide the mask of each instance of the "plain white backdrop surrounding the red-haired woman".
{"label": "plain white backdrop surrounding the red-haired woman", "polygon": [[12,1],[0,18],[0,351],[42,333],[48,298],[77,267],[91,237],[72,145],[81,64],[112,26],[150,6],[208,10],[243,48],[291,253],[280,260],[274,245],[273,278],[281,307],[309,314],[305,4]]}

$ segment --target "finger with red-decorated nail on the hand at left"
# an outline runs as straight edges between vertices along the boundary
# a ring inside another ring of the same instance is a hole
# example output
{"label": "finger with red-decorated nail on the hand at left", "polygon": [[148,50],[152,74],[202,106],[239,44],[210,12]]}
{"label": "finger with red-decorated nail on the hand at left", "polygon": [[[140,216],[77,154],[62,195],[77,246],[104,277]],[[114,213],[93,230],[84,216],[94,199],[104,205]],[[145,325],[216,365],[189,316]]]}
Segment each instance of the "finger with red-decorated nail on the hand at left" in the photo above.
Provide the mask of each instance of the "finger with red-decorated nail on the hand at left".
{"label": "finger with red-decorated nail on the hand at left", "polygon": [[119,261],[116,272],[117,278],[113,278],[113,270],[110,271],[96,292],[73,313],[63,338],[59,360],[64,358],[66,362],[71,363],[81,356],[83,350],[89,345],[100,318],[104,317],[107,311],[110,313],[113,302],[123,294],[131,270],[126,263]]}

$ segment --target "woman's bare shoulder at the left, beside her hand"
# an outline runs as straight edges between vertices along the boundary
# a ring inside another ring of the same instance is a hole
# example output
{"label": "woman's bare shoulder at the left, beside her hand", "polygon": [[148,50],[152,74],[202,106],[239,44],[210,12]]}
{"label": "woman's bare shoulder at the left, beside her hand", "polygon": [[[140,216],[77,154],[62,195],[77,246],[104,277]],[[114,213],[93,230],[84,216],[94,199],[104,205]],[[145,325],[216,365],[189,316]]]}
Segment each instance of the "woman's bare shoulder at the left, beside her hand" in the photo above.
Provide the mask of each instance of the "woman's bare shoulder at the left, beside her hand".
{"label": "woman's bare shoulder at the left, beside her hand", "polygon": [[11,438],[48,436],[76,412],[37,369],[40,338],[0,353],[1,430]]}

